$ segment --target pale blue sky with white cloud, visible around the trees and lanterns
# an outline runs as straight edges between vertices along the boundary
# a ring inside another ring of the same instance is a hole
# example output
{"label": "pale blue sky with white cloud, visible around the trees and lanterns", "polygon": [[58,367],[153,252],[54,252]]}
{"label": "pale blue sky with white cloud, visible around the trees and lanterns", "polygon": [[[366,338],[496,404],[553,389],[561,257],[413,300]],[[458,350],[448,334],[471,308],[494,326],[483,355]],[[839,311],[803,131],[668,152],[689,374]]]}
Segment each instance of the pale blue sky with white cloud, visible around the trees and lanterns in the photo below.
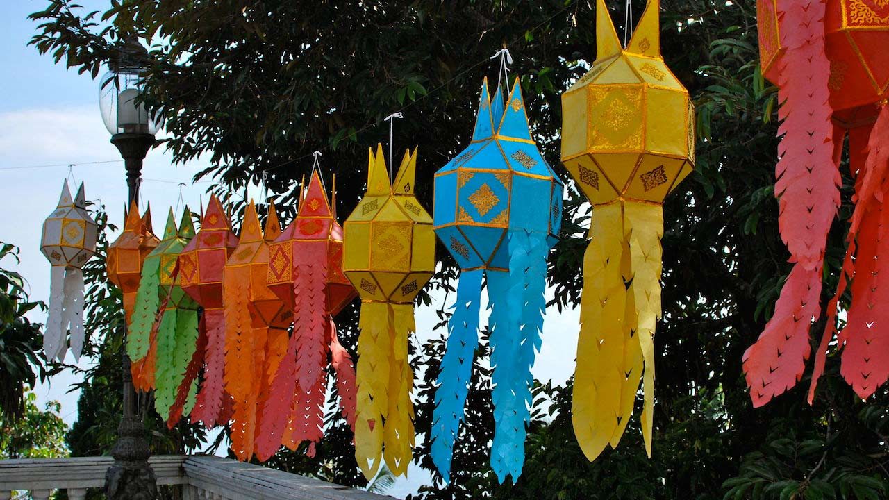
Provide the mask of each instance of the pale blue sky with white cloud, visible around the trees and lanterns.
{"label": "pale blue sky with white cloud, visible around the trees and lanterns", "polygon": [[[108,0],[77,3],[88,10],[100,11],[109,4]],[[15,211],[0,218],[0,241],[20,246],[18,270],[28,279],[32,298],[45,301],[50,266],[39,251],[40,231],[44,218],[58,201],[61,183],[68,175],[67,165],[117,160],[119,155],[108,142],[108,131],[101,123],[98,83],[88,75],[78,75],[63,65],[53,64],[50,56],[42,56],[34,47],[27,46],[36,32],[36,24],[27,20],[27,16],[42,10],[44,5],[43,0],[0,2],[0,22],[3,23],[0,67],[7,69],[7,76],[0,78],[0,95],[4,96],[0,100],[0,199],[4,200],[4,206]],[[59,166],[32,168],[35,165]],[[172,165],[172,158],[163,150],[148,154],[143,169],[147,180],[142,196],[151,202],[156,227],[162,225],[167,207],[177,203],[178,182],[188,183],[182,192],[185,202],[189,206],[198,205],[208,186],[191,185],[190,180],[203,166],[200,161]],[[108,206],[112,221],[119,224],[126,197],[123,163],[75,165],[72,173],[77,182],[85,182],[87,198]],[[434,299],[440,302],[444,297]],[[418,308],[417,342],[433,335],[436,307]],[[578,314],[576,310],[558,313],[555,308],[547,312],[543,347],[533,372],[543,381],[565,383],[573,373]],[[39,314],[32,319],[43,321]],[[81,363],[85,365],[89,360]],[[61,414],[67,423],[76,417],[78,394],[68,392],[70,384],[75,382],[75,375],[62,374],[36,389],[40,401],[61,402]],[[415,467],[409,475],[412,480],[399,481],[390,494],[403,496],[423,479],[422,472]]]}

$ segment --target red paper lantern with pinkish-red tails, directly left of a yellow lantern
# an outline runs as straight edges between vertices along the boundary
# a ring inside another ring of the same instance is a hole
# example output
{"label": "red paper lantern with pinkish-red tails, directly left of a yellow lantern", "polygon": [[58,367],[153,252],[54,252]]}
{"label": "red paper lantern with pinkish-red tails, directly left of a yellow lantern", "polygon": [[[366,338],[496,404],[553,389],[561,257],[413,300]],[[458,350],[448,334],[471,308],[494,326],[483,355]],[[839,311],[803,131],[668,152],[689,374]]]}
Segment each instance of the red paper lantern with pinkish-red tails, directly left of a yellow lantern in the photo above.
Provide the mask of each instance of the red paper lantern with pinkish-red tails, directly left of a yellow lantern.
{"label": "red paper lantern with pinkish-red tails, directly left of a yellow lantern", "polygon": [[[334,187],[335,191],[335,187]],[[297,216],[269,244],[268,287],[292,313],[293,335],[262,404],[255,452],[260,461],[284,445],[308,441],[308,455],[324,435],[328,352],[336,372],[340,408],[355,425],[355,375],[348,353],[336,340],[332,318],[355,297],[342,274],[342,229],[313,168]]]}

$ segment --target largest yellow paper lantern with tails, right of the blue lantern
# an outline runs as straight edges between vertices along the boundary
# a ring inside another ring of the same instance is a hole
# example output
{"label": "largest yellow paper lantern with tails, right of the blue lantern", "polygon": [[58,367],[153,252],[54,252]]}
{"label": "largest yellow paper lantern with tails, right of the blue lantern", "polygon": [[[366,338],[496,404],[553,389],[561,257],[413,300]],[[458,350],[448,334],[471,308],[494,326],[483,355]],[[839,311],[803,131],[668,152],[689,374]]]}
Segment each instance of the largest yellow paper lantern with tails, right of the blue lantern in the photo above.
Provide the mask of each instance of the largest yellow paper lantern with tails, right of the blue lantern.
{"label": "largest yellow paper lantern with tails, right of the blue lantern", "polygon": [[662,205],[694,168],[694,109],[661,56],[659,9],[649,0],[624,48],[598,0],[596,61],[562,95],[562,161],[593,206],[572,404],[590,461],[618,446],[640,381],[652,453]]}

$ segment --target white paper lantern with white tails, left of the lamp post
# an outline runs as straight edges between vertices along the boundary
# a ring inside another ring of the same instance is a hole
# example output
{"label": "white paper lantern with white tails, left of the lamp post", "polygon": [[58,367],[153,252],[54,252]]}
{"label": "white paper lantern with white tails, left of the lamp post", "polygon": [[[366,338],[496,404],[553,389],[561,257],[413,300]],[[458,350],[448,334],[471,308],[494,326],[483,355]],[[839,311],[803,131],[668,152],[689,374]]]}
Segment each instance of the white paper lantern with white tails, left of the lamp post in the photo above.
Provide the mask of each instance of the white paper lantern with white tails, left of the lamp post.
{"label": "white paper lantern with white tails, left of the lamp post", "polygon": [[96,223],[86,212],[84,184],[71,198],[68,180],[62,185],[59,205],[44,221],[40,250],[52,264],[50,305],[44,327],[46,359],[65,359],[66,332],[71,353],[80,359],[84,350],[84,272],[81,268],[96,249]]}

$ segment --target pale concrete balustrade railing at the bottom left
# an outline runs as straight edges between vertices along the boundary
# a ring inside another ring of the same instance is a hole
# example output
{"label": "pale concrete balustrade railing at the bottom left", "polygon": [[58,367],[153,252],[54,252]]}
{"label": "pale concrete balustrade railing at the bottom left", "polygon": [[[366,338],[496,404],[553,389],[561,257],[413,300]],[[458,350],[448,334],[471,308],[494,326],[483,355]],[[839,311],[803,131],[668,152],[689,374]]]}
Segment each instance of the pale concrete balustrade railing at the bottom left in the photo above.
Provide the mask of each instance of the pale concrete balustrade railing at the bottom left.
{"label": "pale concrete balustrade railing at the bottom left", "polygon": [[[0,460],[0,500],[14,491],[28,491],[35,500],[53,490],[67,490],[71,500],[83,500],[88,488],[102,488],[110,456]],[[359,489],[218,456],[152,456],[157,484],[181,488],[183,500],[383,500]]]}

